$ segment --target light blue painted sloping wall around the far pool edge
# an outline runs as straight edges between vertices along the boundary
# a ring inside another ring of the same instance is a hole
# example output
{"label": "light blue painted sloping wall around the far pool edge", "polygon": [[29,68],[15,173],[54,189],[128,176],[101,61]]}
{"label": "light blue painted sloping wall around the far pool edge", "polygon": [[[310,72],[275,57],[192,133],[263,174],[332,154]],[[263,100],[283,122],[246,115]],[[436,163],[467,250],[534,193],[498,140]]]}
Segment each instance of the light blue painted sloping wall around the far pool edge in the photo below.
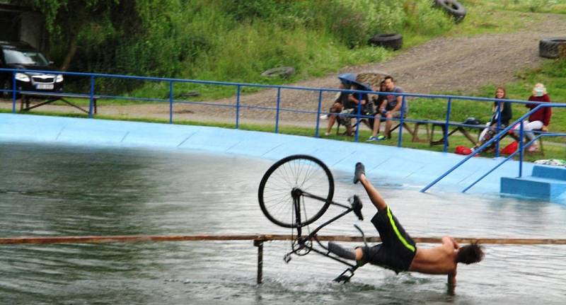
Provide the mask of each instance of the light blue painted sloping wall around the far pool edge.
{"label": "light blue painted sloping wall around the far pool edge", "polygon": [[[290,154],[311,154],[335,171],[353,171],[354,164],[362,161],[370,178],[411,187],[426,185],[463,159],[460,155],[436,151],[268,132],[40,115],[0,114],[0,141],[202,150],[274,161]],[[497,162],[474,158],[429,192],[460,192]],[[533,163],[524,163],[524,171],[531,172],[532,168]],[[517,175],[518,163],[509,161],[468,192],[497,194],[503,176]]]}

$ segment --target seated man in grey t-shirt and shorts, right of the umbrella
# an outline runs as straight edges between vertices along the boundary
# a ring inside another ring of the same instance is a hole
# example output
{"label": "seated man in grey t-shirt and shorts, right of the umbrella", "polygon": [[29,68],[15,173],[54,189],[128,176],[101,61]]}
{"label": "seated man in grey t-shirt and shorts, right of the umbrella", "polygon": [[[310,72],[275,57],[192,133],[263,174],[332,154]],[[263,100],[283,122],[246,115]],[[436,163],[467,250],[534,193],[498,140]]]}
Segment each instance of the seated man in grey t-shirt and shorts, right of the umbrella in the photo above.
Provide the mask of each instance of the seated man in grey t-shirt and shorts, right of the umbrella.
{"label": "seated man in grey t-shirt and shorts, right of the umbrella", "polygon": [[[393,92],[393,93],[403,93],[402,88],[395,86],[395,82],[393,81],[393,77],[386,76],[383,80],[386,92]],[[380,105],[376,105],[376,114],[375,114],[375,123],[374,123],[374,130],[372,130],[371,137],[367,139],[367,141],[381,141],[384,139],[388,139],[391,137],[389,134],[391,131],[391,125],[393,125],[392,118],[400,118],[401,117],[401,106],[403,105],[403,96],[395,96],[393,94],[387,94],[386,99],[381,102]],[[408,113],[408,103],[405,102],[403,113],[407,115]],[[385,123],[385,136],[378,136],[379,134],[379,127],[381,125],[381,120],[383,118],[386,119]]]}

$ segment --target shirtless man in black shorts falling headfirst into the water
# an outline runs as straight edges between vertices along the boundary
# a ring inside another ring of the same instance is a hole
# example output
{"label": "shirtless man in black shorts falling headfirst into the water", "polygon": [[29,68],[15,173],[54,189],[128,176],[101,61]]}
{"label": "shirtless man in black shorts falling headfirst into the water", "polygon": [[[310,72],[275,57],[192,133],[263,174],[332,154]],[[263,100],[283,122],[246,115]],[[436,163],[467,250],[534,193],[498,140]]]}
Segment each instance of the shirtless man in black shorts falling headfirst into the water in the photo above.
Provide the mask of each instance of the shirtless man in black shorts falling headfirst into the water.
{"label": "shirtless man in black shorts falling headfirst into the water", "polygon": [[377,214],[371,219],[381,243],[373,247],[357,247],[349,251],[336,243],[328,243],[328,250],[342,258],[357,260],[358,265],[371,263],[391,269],[397,273],[416,271],[429,275],[448,275],[449,289],[456,287],[456,269],[458,263],[479,263],[483,251],[478,243],[461,247],[450,236],[442,238],[441,246],[417,248],[409,234],[391,212],[388,205],[366,178],[364,164],[357,163],[354,183],[362,183],[371,202],[377,208]]}

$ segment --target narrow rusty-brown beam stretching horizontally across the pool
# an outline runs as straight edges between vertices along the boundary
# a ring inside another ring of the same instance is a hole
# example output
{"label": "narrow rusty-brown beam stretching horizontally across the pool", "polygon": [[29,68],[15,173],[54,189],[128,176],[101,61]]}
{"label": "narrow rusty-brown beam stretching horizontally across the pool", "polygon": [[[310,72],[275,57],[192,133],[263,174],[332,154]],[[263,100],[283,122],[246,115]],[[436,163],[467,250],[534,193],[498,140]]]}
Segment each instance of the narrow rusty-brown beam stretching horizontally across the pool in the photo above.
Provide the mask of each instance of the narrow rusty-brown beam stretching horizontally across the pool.
{"label": "narrow rusty-brown beam stretching horizontally across the pool", "polygon": [[[441,237],[413,237],[417,243],[441,243]],[[455,237],[458,243],[483,243],[501,245],[566,245],[566,238],[471,238]],[[49,243],[133,243],[148,241],[290,241],[290,235],[250,234],[250,235],[116,235],[116,236],[22,236],[0,238],[0,244],[49,244]],[[359,236],[318,236],[319,241],[363,242]],[[367,237],[366,241],[378,243],[377,236]]]}

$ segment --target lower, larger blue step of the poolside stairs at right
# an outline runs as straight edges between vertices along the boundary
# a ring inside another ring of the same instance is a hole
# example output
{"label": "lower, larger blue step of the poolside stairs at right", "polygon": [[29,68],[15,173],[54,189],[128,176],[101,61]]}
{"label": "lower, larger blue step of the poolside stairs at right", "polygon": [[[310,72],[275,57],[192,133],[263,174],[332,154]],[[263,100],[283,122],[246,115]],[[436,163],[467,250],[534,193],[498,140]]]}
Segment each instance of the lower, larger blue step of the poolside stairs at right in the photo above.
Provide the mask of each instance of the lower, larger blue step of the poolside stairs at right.
{"label": "lower, larger blue step of the poolside stairs at right", "polygon": [[501,192],[550,200],[566,192],[566,180],[526,176],[501,178]]}

